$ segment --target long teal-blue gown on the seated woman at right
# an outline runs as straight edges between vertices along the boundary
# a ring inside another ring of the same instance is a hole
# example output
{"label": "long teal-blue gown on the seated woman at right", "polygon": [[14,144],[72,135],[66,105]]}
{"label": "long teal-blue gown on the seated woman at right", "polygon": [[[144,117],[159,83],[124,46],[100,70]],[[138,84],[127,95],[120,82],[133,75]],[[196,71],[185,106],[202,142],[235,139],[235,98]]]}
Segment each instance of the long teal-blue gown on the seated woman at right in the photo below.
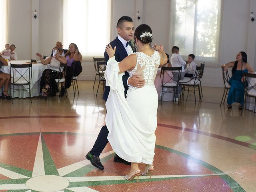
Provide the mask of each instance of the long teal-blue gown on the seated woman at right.
{"label": "long teal-blue gown on the seated woman at right", "polygon": [[234,102],[240,103],[241,105],[244,104],[244,82],[241,82],[244,72],[248,73],[248,70],[236,70],[228,81],[228,84],[231,85],[228,92],[228,105]]}

